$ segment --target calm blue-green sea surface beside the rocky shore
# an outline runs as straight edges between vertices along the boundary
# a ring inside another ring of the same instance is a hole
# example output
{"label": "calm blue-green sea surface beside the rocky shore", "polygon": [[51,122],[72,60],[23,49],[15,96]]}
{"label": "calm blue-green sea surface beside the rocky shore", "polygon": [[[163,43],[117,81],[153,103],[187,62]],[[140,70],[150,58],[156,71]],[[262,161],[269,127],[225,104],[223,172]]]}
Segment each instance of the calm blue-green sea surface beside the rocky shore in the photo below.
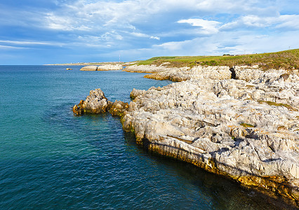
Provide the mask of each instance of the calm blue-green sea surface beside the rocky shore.
{"label": "calm blue-green sea surface beside the rocky shore", "polygon": [[95,88],[112,102],[130,102],[133,87],[171,83],[80,68],[0,66],[0,209],[281,207],[234,181],[152,155],[109,113],[74,116],[72,106]]}

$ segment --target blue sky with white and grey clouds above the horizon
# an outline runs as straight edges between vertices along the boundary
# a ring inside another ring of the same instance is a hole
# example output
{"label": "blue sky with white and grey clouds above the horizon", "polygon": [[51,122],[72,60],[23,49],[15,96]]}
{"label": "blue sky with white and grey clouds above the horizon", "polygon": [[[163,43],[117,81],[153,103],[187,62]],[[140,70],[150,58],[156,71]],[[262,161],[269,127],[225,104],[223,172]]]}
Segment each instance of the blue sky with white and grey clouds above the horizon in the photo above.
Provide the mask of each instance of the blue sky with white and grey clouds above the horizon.
{"label": "blue sky with white and grey clouds above the horizon", "polygon": [[299,48],[299,0],[0,0],[0,65]]}

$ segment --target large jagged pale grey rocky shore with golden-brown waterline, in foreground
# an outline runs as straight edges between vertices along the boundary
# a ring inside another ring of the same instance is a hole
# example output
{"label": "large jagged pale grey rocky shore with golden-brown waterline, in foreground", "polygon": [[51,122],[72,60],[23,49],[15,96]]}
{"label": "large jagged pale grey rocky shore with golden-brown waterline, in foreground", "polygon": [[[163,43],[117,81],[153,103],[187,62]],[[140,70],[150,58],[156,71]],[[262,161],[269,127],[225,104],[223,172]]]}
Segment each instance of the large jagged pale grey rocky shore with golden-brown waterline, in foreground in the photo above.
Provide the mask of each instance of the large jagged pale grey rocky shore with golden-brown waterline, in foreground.
{"label": "large jagged pale grey rocky shore with golden-brown waterline, in foreground", "polygon": [[150,151],[299,202],[298,69],[128,66],[173,80],[131,92],[128,104],[92,90],[77,115],[109,111]]}

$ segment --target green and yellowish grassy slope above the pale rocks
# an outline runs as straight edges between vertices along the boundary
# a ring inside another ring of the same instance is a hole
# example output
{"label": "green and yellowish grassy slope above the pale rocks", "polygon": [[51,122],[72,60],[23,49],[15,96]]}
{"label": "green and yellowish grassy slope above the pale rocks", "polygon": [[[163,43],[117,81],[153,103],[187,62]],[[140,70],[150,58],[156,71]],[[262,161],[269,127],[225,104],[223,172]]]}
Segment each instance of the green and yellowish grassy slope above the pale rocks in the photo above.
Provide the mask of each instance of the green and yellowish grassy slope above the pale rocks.
{"label": "green and yellowish grassy slope above the pale rocks", "polygon": [[166,63],[168,67],[258,65],[263,69],[299,69],[299,49],[235,56],[173,56],[152,57],[138,61],[138,65]]}

